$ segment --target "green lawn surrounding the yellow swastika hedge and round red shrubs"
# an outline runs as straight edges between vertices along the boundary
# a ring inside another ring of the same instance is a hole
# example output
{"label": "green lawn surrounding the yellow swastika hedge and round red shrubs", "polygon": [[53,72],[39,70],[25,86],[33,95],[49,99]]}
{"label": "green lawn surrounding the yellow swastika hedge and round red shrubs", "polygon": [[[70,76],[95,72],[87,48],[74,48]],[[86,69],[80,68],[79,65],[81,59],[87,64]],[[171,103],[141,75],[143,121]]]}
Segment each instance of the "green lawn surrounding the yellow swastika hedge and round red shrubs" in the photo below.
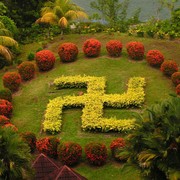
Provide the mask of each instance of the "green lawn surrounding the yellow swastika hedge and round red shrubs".
{"label": "green lawn surrounding the yellow swastika hedge and round red shrubs", "polygon": [[[88,59],[82,53],[83,42],[88,38],[97,38],[102,43],[102,52],[100,57]],[[124,45],[123,54],[120,58],[110,58],[107,56],[105,44],[110,39],[119,39]],[[163,76],[158,69],[150,67],[145,60],[134,62],[128,59],[125,50],[125,44],[129,41],[141,41],[145,45],[146,52],[149,49],[158,49],[162,51],[166,59],[174,59],[179,64],[179,46],[176,41],[153,40],[147,38],[129,37],[127,35],[107,34],[96,35],[66,35],[64,40],[60,37],[55,38],[48,44],[48,49],[57,55],[58,46],[63,42],[76,43],[79,48],[78,60],[73,63],[62,64],[59,60],[56,61],[54,69],[46,73],[37,72],[36,77],[30,82],[23,83],[20,91],[13,95],[13,117],[11,119],[20,132],[32,131],[37,137],[47,136],[42,132],[43,115],[46,110],[49,99],[57,96],[77,95],[79,91],[86,89],[61,89],[55,90],[51,85],[53,80],[61,75],[91,75],[105,76],[107,78],[106,93],[123,93],[126,91],[128,79],[133,76],[142,76],[146,79],[145,87],[145,103],[141,109],[105,109],[104,116],[117,118],[138,117],[138,113],[145,115],[145,109],[157,101],[161,101],[169,97],[169,94],[175,92],[170,79]],[[29,44],[24,47],[24,51],[20,58],[25,60],[29,49],[35,52],[38,49],[39,43]],[[168,47],[168,48],[167,48]],[[58,58],[57,58],[58,59]],[[16,67],[10,67],[10,71],[16,70]],[[4,71],[0,71],[0,77]],[[0,81],[0,88],[2,81]],[[109,147],[111,141],[115,137],[124,136],[119,133],[98,133],[98,132],[83,132],[81,131],[81,109],[68,109],[63,112],[63,127],[62,132],[58,135],[63,141],[74,141],[81,144],[82,147],[88,142],[99,141]],[[122,179],[119,172],[121,164],[114,162],[110,157],[106,165],[99,168],[89,166],[86,162],[82,162],[75,169],[88,179]],[[84,158],[84,155],[83,155]],[[107,176],[108,174],[108,176]]]}

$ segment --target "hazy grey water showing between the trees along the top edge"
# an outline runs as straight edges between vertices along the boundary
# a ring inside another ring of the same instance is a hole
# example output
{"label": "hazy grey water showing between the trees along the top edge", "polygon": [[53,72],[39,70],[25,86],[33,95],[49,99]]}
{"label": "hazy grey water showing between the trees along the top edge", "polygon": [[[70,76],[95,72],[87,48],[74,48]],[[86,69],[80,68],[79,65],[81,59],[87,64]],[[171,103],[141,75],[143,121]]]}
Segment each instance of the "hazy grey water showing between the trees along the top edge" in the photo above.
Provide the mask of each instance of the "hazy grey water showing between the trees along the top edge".
{"label": "hazy grey water showing between the trees along the top edge", "polygon": [[[96,10],[91,9],[90,2],[93,0],[72,0],[75,4],[82,7],[89,15],[92,15],[96,12]],[[119,0],[122,2],[123,0]],[[128,16],[131,17],[133,12],[137,8],[141,8],[141,14],[140,14],[140,20],[141,21],[147,21],[150,17],[156,15],[156,10],[158,7],[157,0],[130,0],[129,4],[129,14]],[[176,7],[180,8],[180,2],[176,4]],[[170,17],[170,12],[168,9],[163,9],[160,14],[160,19],[167,19]]]}

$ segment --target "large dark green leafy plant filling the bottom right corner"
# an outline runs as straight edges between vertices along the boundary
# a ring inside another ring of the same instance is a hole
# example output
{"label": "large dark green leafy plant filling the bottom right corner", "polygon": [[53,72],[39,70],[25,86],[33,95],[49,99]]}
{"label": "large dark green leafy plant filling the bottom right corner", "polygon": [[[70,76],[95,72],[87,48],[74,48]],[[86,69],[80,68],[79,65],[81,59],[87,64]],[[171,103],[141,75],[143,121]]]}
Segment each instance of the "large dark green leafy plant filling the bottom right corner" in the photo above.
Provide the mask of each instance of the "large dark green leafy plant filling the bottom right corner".
{"label": "large dark green leafy plant filling the bottom right corner", "polygon": [[180,178],[179,109],[176,96],[148,109],[149,118],[128,135],[127,146],[120,153],[128,158],[122,172],[134,171],[148,179]]}

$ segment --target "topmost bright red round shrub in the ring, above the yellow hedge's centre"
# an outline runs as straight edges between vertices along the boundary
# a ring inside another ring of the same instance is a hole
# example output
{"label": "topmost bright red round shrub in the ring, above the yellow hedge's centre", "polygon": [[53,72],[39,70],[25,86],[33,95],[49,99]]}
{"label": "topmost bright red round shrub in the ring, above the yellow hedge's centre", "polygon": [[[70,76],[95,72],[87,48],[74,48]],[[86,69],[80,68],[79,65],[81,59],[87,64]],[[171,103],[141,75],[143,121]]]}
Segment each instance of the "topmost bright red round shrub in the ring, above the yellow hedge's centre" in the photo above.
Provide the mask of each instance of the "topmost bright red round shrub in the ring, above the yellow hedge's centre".
{"label": "topmost bright red round shrub in the ring, above the yellow hedge's centre", "polygon": [[83,45],[83,52],[87,57],[97,57],[101,52],[101,43],[97,39],[87,39]]}

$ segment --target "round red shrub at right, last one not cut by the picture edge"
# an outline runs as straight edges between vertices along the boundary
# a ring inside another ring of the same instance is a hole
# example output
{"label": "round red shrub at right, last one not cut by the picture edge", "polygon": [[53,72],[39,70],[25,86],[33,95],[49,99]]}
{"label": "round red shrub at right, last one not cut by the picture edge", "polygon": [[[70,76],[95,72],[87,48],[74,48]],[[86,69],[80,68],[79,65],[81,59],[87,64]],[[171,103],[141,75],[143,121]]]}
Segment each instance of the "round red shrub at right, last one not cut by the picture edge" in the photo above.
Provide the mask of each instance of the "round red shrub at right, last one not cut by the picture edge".
{"label": "round red shrub at right, last one not cut by the picture edge", "polygon": [[178,65],[173,60],[164,61],[161,64],[161,71],[167,76],[171,76],[174,72],[178,71]]}

